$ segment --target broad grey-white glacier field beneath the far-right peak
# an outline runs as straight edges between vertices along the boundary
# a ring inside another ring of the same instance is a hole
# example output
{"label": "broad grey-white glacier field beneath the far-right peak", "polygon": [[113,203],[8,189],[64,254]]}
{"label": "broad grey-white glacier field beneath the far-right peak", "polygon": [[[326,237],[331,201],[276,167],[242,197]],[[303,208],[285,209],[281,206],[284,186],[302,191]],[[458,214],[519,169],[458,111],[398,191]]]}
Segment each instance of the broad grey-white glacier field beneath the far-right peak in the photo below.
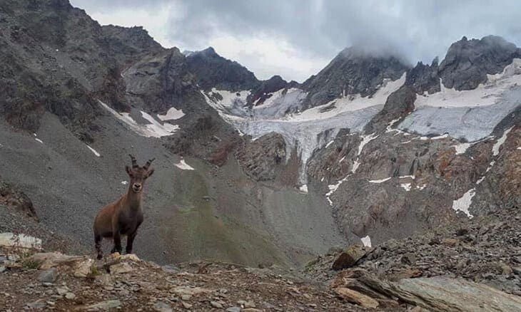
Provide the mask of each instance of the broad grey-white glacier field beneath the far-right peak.
{"label": "broad grey-white glacier field beneath the far-right peak", "polygon": [[[515,58],[502,73],[489,75],[474,90],[457,91],[441,84],[441,91],[418,95],[415,111],[398,128],[421,135],[448,133],[469,142],[490,135],[495,126],[521,105],[521,59]],[[464,152],[467,145],[458,146]]]}

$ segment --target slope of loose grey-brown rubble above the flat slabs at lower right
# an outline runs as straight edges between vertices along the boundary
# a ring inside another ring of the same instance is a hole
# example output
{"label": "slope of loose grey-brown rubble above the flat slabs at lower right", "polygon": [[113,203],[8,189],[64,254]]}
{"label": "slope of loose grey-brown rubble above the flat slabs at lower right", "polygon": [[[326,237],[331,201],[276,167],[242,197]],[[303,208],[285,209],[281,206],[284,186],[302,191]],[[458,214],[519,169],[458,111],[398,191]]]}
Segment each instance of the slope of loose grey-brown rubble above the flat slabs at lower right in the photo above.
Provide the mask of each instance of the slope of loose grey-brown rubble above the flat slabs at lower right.
{"label": "slope of loose grey-brown rubble above the flat slabs at lower right", "polygon": [[440,224],[420,235],[386,241],[340,274],[331,266],[341,252],[318,257],[305,272],[313,279],[333,281],[335,287],[343,285],[350,272],[363,269],[386,281],[444,276],[520,296],[520,218],[517,208],[498,209],[467,221]]}

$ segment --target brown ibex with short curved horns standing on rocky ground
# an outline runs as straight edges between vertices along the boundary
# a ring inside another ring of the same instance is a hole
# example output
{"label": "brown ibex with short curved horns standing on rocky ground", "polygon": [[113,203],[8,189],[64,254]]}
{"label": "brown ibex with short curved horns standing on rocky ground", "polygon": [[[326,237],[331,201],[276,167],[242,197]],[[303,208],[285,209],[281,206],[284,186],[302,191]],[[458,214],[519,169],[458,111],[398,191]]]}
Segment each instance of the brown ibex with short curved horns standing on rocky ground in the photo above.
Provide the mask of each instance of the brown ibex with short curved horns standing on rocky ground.
{"label": "brown ibex with short curved horns standing on rocky ground", "polygon": [[101,251],[101,239],[113,238],[114,247],[111,252],[121,254],[121,236],[126,235],[126,253],[132,253],[132,243],[136,238],[138,227],[143,222],[143,210],[141,199],[143,197],[143,186],[148,177],[153,174],[150,167],[153,159],[148,160],[143,167],[139,167],[136,158],[129,155],[132,160],[132,168],[126,166],[126,172],[130,177],[128,192],[117,202],[103,207],[94,219],[94,245],[98,259],[103,257]]}

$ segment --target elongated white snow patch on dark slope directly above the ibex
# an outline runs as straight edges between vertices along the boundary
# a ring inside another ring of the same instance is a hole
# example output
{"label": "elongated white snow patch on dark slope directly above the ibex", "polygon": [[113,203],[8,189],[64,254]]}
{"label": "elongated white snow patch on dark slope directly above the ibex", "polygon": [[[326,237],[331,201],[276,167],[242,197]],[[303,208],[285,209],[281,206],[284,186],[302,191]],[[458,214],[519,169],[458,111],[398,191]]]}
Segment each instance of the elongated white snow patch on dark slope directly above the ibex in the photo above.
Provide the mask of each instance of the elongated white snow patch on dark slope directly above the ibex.
{"label": "elongated white snow patch on dark slope directly above the ibex", "polygon": [[138,135],[142,135],[143,137],[164,137],[167,135],[173,135],[177,130],[179,130],[178,125],[172,125],[171,123],[159,123],[155,120],[151,115],[141,111],[141,116],[146,119],[149,123],[146,125],[141,125],[133,120],[129,113],[118,113],[116,110],[113,110],[110,106],[98,100],[103,108],[105,108],[108,112],[114,115],[118,120],[121,120],[123,123],[128,125],[128,128],[131,128]]}

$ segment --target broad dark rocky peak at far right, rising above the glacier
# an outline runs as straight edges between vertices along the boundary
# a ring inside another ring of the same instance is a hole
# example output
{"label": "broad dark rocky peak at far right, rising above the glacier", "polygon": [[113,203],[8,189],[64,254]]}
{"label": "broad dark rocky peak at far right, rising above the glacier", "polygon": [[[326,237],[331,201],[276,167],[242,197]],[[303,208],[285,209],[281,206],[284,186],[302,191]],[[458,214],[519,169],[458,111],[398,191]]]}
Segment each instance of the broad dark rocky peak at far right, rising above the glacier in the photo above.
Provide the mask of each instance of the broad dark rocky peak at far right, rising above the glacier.
{"label": "broad dark rocky peak at far right, rising above the glacier", "polygon": [[521,56],[520,49],[498,36],[452,43],[447,56],[440,63],[439,75],[447,88],[471,90],[487,81],[487,74],[500,73],[513,58]]}

